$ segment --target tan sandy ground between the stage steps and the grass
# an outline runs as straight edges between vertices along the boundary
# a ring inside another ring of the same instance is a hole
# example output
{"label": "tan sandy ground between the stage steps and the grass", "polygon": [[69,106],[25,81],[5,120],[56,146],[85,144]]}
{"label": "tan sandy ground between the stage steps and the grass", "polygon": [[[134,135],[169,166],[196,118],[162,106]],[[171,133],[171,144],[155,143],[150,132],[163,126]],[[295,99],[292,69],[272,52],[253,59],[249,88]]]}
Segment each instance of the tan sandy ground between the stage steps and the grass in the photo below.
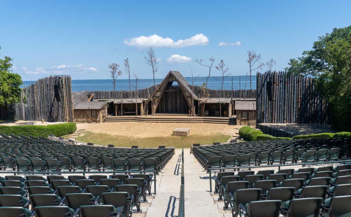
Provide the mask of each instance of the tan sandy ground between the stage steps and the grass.
{"label": "tan sandy ground between the stage steps and the grass", "polygon": [[111,122],[102,124],[79,124],[77,129],[85,129],[94,133],[108,133],[112,135],[131,137],[166,137],[176,128],[190,128],[190,134],[223,133],[234,136],[240,126],[210,123],[140,123],[140,122]]}

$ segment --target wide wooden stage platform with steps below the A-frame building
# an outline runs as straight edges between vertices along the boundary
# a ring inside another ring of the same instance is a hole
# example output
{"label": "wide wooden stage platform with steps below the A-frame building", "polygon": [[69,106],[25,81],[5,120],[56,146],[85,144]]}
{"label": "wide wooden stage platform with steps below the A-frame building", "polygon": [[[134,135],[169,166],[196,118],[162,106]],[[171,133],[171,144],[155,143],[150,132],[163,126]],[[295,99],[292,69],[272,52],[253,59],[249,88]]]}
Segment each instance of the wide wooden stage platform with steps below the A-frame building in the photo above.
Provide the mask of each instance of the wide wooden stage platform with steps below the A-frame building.
{"label": "wide wooden stage platform with steps below the A-frame building", "polygon": [[152,123],[214,123],[236,125],[234,117],[189,117],[188,114],[158,113],[147,116],[112,116],[108,115],[103,122],[152,122]]}

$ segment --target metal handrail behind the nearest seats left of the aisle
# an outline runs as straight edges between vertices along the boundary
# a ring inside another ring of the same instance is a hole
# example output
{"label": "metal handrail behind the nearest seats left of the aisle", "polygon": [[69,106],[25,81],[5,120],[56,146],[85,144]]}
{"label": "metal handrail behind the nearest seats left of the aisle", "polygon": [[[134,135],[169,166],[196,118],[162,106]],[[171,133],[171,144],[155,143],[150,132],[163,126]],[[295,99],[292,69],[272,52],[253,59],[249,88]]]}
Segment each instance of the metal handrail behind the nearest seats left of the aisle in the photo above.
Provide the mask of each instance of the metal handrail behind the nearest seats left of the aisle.
{"label": "metal handrail behind the nearest seats left of the aisle", "polygon": [[3,173],[13,173],[14,175],[16,174],[80,174],[83,173],[83,176],[85,176],[85,173],[88,174],[96,174],[96,173],[103,173],[103,174],[107,174],[107,173],[145,173],[145,172],[153,172],[153,177],[154,177],[154,194],[156,194],[156,170],[147,170],[147,171],[75,171],[75,172],[19,172],[19,171],[0,171],[0,174]]}

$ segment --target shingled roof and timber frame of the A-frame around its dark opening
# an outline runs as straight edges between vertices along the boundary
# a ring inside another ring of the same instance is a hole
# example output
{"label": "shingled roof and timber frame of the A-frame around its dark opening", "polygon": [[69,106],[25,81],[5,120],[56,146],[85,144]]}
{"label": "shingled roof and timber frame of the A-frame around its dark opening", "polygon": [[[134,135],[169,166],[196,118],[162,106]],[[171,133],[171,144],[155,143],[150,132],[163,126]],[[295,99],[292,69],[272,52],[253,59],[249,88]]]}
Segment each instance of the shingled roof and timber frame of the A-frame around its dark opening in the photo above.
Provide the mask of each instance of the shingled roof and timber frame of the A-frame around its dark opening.
{"label": "shingled roof and timber frame of the A-frame around its dark opening", "polygon": [[192,114],[195,114],[195,106],[194,106],[194,100],[198,100],[198,97],[191,91],[189,87],[189,83],[185,80],[183,75],[180,74],[178,71],[170,71],[165,79],[161,82],[160,86],[158,87],[157,90],[153,92],[151,97],[149,98],[150,101],[152,101],[151,104],[151,113],[155,114],[157,110],[157,106],[160,103],[160,100],[162,98],[162,95],[165,91],[165,88],[167,86],[171,86],[172,83],[176,81],[179,85],[179,88],[184,94],[184,97],[186,99],[186,102],[191,110]]}

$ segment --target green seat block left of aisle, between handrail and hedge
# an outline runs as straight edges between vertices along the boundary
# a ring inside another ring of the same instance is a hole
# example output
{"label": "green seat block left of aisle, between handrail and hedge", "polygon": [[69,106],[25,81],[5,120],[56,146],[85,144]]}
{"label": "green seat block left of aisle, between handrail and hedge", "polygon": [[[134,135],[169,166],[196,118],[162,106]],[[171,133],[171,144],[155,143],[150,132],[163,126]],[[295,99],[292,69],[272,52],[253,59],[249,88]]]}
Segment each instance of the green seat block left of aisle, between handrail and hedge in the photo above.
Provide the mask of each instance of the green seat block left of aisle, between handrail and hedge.
{"label": "green seat block left of aisle, between handrail and hedge", "polygon": [[[24,144],[20,139],[0,139],[0,170],[21,172],[141,171],[163,169],[174,149],[127,149],[50,144]],[[39,142],[37,140],[33,140]],[[43,140],[47,142],[47,140]],[[55,143],[55,144],[52,144]]]}

